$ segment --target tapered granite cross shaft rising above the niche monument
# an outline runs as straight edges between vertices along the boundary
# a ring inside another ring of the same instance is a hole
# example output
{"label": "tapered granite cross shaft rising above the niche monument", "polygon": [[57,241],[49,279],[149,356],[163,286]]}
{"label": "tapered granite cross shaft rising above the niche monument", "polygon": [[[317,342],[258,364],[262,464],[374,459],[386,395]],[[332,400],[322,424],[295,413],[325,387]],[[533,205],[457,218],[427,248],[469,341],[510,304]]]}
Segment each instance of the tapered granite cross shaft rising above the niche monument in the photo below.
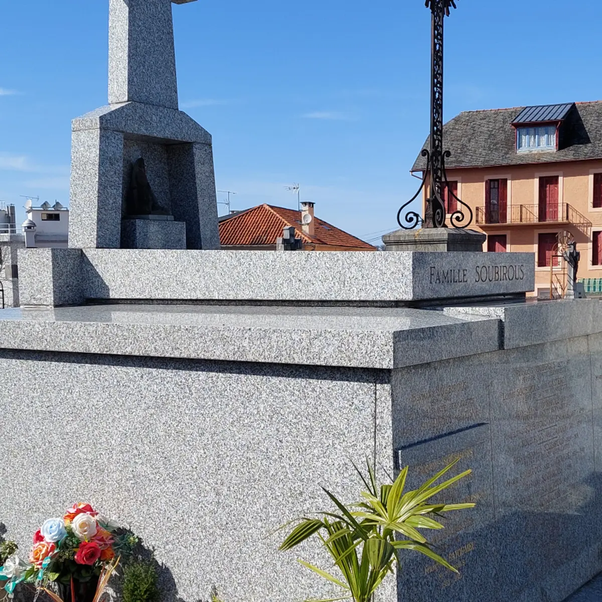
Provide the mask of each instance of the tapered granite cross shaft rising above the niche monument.
{"label": "tapered granite cross shaft rising above the niche monument", "polygon": [[109,103],[178,108],[172,2],[110,0]]}

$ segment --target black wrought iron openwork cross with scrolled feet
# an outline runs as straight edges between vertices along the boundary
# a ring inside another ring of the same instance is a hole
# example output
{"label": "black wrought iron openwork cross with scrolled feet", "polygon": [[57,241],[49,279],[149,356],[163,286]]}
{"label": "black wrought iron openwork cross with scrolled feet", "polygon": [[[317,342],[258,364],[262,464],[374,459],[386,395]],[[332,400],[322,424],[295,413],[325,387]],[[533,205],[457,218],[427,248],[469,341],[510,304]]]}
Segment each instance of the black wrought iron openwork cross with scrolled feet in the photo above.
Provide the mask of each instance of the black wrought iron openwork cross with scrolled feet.
{"label": "black wrought iron openwork cross with scrolled feet", "polygon": [[[460,200],[447,184],[445,173],[445,159],[451,157],[449,151],[443,150],[443,23],[445,16],[449,16],[450,8],[456,8],[455,0],[426,0],[424,4],[431,12],[431,88],[430,88],[430,147],[423,149],[422,156],[426,158],[426,169],[418,192],[397,213],[397,222],[403,229],[411,230],[419,223],[424,228],[447,228],[445,223],[445,202],[443,199],[444,186],[447,188],[447,199],[455,199],[458,209],[450,216],[450,222],[455,228],[466,228],[473,221],[472,209]],[[424,219],[415,211],[408,211],[403,217],[402,213],[410,203],[429,183],[429,197],[426,199]],[[461,206],[468,211],[464,214]],[[404,223],[405,222],[405,223]]]}

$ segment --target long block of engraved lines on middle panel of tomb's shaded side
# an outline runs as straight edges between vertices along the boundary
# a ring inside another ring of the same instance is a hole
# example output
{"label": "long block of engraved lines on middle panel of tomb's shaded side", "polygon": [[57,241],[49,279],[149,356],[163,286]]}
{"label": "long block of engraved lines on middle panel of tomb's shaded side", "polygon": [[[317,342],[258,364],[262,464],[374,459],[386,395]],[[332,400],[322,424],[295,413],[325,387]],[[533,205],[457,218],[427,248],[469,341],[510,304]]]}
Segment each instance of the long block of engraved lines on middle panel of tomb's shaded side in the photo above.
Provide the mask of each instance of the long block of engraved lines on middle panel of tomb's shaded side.
{"label": "long block of engraved lines on middle panel of tomb's shaded side", "polygon": [[589,358],[585,348],[563,353],[567,344],[516,350],[492,380],[500,512],[569,509],[571,484],[592,468]]}

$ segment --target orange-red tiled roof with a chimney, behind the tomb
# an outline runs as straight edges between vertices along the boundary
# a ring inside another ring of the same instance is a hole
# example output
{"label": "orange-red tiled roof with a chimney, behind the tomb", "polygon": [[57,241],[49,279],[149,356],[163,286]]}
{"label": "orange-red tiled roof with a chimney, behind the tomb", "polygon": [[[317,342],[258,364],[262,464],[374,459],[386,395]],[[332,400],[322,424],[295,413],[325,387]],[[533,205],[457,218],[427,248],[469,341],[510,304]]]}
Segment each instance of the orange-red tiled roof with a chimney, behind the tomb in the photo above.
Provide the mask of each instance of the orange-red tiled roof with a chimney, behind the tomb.
{"label": "orange-red tiled roof with a chimney, behind the tomb", "polygon": [[220,242],[223,246],[276,244],[276,238],[282,236],[282,229],[294,226],[296,238],[300,238],[304,244],[374,250],[371,244],[347,234],[319,217],[314,218],[314,224],[314,236],[309,237],[303,234],[300,211],[264,203],[220,219]]}

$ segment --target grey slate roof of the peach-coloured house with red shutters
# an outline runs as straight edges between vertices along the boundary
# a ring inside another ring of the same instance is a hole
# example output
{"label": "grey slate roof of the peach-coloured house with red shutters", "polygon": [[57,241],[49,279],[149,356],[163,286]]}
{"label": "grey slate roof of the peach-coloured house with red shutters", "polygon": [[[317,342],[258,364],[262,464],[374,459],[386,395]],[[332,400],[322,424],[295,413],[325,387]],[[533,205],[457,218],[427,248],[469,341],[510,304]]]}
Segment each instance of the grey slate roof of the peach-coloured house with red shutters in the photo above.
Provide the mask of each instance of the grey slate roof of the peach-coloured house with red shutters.
{"label": "grey slate roof of the peach-coloured house with red shutters", "polygon": [[[527,107],[465,111],[445,123],[444,149],[452,152],[446,167],[494,167],[602,159],[602,101],[577,103],[571,112],[571,126],[561,150],[516,152],[512,122]],[[567,120],[568,121],[568,120]],[[429,147],[429,138],[423,148]],[[418,154],[412,171],[421,171],[426,160]]]}

